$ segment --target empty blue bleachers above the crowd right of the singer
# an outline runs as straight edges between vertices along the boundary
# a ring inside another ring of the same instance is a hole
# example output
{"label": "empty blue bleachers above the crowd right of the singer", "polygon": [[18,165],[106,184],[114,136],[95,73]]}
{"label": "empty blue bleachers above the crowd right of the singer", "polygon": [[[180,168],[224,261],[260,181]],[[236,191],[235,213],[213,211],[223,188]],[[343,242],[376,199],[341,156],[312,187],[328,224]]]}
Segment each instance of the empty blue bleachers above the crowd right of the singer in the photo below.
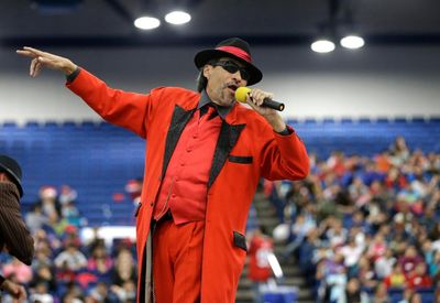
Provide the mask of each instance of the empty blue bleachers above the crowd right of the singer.
{"label": "empty blue bleachers above the crowd right of the singer", "polygon": [[413,149],[425,152],[440,151],[440,119],[350,119],[322,120],[305,119],[288,120],[299,137],[306,143],[309,152],[317,153],[321,159],[328,158],[334,151],[346,154],[374,155],[386,150],[397,136]]}

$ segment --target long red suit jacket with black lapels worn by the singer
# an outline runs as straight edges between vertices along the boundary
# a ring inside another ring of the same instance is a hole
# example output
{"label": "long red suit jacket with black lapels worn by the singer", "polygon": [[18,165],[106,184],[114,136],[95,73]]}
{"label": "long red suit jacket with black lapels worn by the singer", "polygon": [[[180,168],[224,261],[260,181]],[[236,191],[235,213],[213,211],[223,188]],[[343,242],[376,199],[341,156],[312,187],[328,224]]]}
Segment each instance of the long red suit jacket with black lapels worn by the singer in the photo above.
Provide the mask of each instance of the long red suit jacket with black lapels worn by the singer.
{"label": "long red suit jacket with black lapels worn by the singer", "polygon": [[[67,87],[110,123],[147,140],[142,206],[136,219],[140,280],[152,212],[162,178],[177,140],[197,110],[200,94],[177,87],[160,87],[147,95],[108,87],[86,71]],[[300,180],[309,172],[301,140],[280,136],[258,113],[235,102],[223,121],[215,150],[207,193],[201,277],[201,302],[234,302],[246,256],[244,229],[248,212],[261,176]]]}

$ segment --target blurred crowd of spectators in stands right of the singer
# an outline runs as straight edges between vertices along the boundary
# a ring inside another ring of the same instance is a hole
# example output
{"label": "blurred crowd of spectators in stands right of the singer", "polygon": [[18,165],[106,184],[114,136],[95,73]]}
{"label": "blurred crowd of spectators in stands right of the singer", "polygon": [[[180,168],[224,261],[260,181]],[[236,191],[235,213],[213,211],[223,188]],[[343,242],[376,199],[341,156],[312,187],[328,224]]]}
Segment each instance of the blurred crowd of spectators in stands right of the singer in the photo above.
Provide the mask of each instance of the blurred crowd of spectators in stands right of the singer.
{"label": "blurred crowd of spectators in stands right of the singer", "polygon": [[266,194],[319,302],[440,302],[439,185],[440,154],[399,137],[372,158],[312,154],[307,180]]}

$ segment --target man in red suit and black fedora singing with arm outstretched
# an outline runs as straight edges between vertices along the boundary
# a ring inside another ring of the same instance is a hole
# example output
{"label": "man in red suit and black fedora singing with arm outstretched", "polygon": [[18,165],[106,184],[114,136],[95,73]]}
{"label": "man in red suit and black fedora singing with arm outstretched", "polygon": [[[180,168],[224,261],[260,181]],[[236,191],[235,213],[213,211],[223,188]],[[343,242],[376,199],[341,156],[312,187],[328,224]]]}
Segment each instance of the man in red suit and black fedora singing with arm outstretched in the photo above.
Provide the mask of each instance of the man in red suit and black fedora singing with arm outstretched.
{"label": "man in red suit and black fedora singing with arm outstretched", "polygon": [[302,141],[254,88],[251,107],[239,87],[257,84],[249,44],[231,37],[195,56],[197,90],[158,87],[150,94],[108,87],[68,58],[23,47],[31,76],[62,71],[67,87],[107,121],[147,140],[136,210],[139,302],[234,302],[246,256],[244,237],[260,178],[301,180]]}

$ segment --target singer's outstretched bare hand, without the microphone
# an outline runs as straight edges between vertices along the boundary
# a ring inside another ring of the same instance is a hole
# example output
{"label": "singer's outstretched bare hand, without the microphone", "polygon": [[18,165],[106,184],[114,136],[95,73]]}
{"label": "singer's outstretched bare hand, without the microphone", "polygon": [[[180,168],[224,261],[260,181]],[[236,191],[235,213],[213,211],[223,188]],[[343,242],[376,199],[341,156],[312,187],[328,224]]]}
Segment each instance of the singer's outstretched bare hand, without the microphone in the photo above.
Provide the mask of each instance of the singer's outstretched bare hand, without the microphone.
{"label": "singer's outstretched bare hand, without the microphone", "polygon": [[32,58],[29,71],[31,77],[36,77],[43,67],[61,71],[66,75],[70,75],[77,68],[77,65],[74,64],[68,58],[46,53],[29,46],[24,46],[23,50],[18,50],[16,53],[19,55]]}

